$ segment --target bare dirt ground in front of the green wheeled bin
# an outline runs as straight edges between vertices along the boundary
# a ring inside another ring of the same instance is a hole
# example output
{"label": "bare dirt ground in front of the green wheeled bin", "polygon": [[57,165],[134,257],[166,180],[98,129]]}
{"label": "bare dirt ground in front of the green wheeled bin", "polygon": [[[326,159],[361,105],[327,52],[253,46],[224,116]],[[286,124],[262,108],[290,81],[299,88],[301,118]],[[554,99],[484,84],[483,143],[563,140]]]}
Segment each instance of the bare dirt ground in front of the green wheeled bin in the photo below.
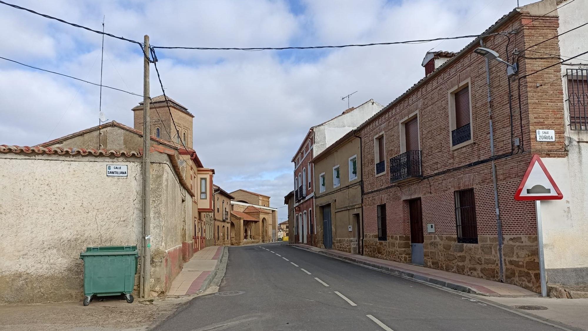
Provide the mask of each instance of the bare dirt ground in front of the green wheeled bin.
{"label": "bare dirt ground in front of the green wheeled bin", "polygon": [[[211,286],[205,295],[216,292]],[[82,302],[42,303],[0,306],[2,331],[143,331],[161,322],[196,296],[155,299],[129,304],[117,297],[94,298]]]}

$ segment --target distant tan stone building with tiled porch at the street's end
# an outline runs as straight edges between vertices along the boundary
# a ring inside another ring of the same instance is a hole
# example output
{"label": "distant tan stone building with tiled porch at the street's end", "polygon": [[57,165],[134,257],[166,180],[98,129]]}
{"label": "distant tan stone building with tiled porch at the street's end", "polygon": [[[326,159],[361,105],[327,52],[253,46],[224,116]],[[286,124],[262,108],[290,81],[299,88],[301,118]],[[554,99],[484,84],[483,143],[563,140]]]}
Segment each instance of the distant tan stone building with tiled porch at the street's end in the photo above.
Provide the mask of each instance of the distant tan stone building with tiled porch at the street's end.
{"label": "distant tan stone building with tiled porch at the street's end", "polygon": [[276,241],[278,210],[269,207],[269,196],[236,190],[230,193],[230,244],[269,243]]}

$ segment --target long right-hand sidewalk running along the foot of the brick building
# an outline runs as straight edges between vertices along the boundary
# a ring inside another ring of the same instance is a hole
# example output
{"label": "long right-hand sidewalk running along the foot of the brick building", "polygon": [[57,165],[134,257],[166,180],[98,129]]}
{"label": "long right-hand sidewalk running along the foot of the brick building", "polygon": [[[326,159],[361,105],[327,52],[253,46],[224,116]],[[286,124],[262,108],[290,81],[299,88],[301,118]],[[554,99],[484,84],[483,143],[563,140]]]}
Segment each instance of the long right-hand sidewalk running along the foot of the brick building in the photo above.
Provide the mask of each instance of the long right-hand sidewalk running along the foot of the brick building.
{"label": "long right-hand sidewalk running along the foot of the brick building", "polygon": [[465,276],[463,274],[450,273],[437,269],[430,269],[414,264],[393,262],[389,260],[376,259],[375,257],[361,256],[358,254],[346,253],[338,250],[320,249],[318,247],[308,246],[305,244],[289,244],[300,249],[314,251],[326,256],[335,257],[350,261],[353,263],[363,264],[365,266],[384,270],[400,276],[410,277],[424,282],[449,287],[450,289],[461,292],[472,293],[482,296],[492,297],[537,297],[539,294],[523,289],[522,287],[493,282],[492,280],[481,279],[476,277]]}

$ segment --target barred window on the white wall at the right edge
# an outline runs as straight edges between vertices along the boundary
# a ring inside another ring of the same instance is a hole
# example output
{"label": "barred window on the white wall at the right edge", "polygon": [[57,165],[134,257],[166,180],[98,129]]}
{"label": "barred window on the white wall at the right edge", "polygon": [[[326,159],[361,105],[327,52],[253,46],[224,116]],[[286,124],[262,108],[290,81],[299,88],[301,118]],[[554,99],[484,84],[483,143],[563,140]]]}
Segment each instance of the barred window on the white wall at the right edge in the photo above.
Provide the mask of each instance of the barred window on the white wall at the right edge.
{"label": "barred window on the white wall at the right edge", "polygon": [[567,69],[570,130],[588,130],[588,69]]}

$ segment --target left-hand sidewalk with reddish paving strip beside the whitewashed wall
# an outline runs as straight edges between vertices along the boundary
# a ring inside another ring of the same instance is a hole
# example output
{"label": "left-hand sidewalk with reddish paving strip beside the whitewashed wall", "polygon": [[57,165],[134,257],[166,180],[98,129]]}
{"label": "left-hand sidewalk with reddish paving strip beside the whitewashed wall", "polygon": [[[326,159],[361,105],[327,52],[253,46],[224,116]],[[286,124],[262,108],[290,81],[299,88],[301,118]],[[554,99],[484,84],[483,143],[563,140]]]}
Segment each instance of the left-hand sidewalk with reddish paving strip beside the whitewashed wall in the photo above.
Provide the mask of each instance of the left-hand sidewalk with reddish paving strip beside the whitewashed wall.
{"label": "left-hand sidewalk with reddish paving strip beside the whitewashed wall", "polygon": [[168,296],[185,296],[206,290],[216,276],[216,266],[225,250],[225,246],[209,246],[197,251],[173,280]]}

